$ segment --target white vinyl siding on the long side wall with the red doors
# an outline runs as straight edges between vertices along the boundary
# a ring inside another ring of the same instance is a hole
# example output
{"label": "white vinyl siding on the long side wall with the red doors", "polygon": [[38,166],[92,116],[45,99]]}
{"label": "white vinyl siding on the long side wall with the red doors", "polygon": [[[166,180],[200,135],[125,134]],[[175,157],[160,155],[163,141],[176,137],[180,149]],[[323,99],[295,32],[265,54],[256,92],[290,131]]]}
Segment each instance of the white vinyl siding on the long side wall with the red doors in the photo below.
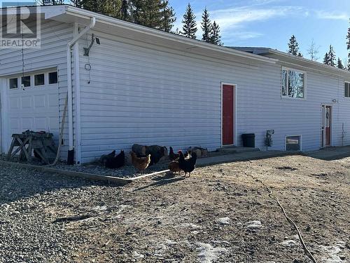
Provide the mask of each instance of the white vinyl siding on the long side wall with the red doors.
{"label": "white vinyl siding on the long side wall with the red doors", "polygon": [[[93,33],[101,45],[92,47],[89,58],[83,56],[88,41],[84,37],[79,43],[83,162],[111,149],[130,149],[134,143],[221,147],[221,82],[237,84],[236,145],[241,145],[242,133],[255,133],[256,146],[266,149],[266,130],[274,129],[270,149],[285,150],[290,134],[302,135],[303,150],[318,149],[321,104],[338,98],[344,83],[335,76],[307,72],[308,100],[281,100],[284,65],[241,58],[222,62]],[[340,105],[344,113],[350,109],[349,102],[334,105],[335,145],[341,144],[342,122],[350,126]],[[344,143],[350,144],[349,135]]]}

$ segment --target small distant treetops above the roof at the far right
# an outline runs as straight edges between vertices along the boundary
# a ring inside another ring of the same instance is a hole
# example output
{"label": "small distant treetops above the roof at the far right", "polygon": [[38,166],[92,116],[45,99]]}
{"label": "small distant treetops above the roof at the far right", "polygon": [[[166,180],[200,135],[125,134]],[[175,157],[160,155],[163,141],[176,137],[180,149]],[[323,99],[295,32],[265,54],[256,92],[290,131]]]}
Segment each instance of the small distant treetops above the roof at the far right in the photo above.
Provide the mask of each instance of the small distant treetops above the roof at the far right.
{"label": "small distant treetops above the roof at the far right", "polygon": [[[346,69],[350,71],[350,27],[348,28],[348,33],[346,35],[346,48],[348,50],[348,58],[346,64],[342,62],[340,58],[337,58],[335,55],[335,50],[332,45],[329,46],[328,52],[325,53],[323,58],[323,64],[329,65],[332,67],[337,67],[339,69]],[[316,46],[314,40],[311,41],[311,45],[307,49],[307,53],[309,54],[310,60],[317,61],[319,46]],[[288,53],[290,55],[296,55],[298,57],[303,57],[302,53],[299,52],[299,43],[297,43],[297,39],[294,35],[292,35],[288,42]]]}

